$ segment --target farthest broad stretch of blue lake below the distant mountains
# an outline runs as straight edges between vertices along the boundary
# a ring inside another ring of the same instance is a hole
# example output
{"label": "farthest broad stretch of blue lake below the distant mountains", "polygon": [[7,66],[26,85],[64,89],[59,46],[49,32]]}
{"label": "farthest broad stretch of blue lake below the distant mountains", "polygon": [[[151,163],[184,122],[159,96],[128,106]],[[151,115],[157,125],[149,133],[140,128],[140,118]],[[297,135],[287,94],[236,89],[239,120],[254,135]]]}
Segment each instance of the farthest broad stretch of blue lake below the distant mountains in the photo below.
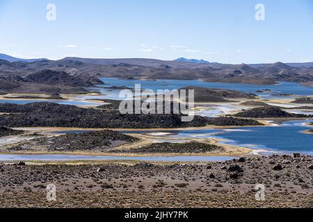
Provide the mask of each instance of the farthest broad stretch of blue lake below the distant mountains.
{"label": "farthest broad stretch of blue lake below the distant mountains", "polygon": [[[255,85],[255,84],[239,84],[239,83],[205,83],[201,80],[124,80],[119,78],[101,78],[106,84],[103,87],[125,86],[134,88],[135,84],[141,84],[142,89],[179,89],[186,86],[198,86],[217,89],[232,89],[247,93],[254,93],[262,96],[264,99],[290,98],[289,96],[277,96],[277,94],[293,94],[293,95],[312,95],[313,87],[306,87],[300,83],[279,82],[278,85]],[[268,93],[257,93],[257,90],[271,89]],[[99,92],[107,94],[110,99],[119,99],[118,92],[114,89],[100,89]],[[273,95],[272,95],[273,94]]]}

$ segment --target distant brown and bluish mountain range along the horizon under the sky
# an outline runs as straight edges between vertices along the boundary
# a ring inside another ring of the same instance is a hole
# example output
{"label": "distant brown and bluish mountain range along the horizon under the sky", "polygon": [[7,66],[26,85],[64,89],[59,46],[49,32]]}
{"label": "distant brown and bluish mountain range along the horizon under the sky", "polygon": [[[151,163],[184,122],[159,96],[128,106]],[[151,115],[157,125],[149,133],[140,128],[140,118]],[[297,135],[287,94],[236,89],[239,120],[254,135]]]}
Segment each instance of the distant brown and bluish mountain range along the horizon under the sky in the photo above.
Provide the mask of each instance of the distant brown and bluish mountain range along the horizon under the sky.
{"label": "distant brown and bluish mountain range along the horizon under the sky", "polygon": [[[15,62],[10,62],[9,59]],[[270,85],[289,81],[313,85],[313,62],[231,65],[204,60],[174,61],[147,58],[63,58],[61,60],[19,60],[1,54],[0,78],[26,77],[44,69],[65,71],[79,78],[145,78],[155,79],[202,79],[220,83],[255,83]],[[2,76],[2,77],[1,77]]]}

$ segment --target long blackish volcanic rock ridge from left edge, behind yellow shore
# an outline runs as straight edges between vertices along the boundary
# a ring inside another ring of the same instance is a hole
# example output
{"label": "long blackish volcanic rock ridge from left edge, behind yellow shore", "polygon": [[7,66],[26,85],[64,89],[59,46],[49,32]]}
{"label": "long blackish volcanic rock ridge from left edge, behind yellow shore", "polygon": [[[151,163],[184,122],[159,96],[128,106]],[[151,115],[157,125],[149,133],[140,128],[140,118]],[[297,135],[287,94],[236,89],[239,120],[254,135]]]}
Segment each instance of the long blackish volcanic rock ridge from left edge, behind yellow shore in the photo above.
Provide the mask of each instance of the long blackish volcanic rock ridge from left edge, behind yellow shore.
{"label": "long blackish volcanic rock ridge from left edge, behind yellow shore", "polygon": [[258,121],[228,117],[195,116],[183,122],[179,114],[120,114],[119,111],[78,108],[56,103],[26,105],[0,104],[0,126],[10,127],[76,127],[76,128],[182,128],[207,125],[260,125]]}

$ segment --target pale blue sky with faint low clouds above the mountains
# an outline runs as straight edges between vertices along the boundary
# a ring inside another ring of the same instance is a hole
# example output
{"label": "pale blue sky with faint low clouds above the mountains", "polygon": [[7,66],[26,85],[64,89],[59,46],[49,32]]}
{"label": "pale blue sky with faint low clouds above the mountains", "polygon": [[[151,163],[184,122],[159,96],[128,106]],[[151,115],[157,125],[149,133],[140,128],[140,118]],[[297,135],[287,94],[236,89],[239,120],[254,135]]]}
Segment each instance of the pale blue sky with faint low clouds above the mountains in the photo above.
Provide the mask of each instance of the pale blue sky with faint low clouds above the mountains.
{"label": "pale blue sky with faint low clouds above the mountains", "polygon": [[[46,19],[48,3],[56,21]],[[265,21],[255,19],[257,3]],[[0,53],[310,62],[313,0],[0,0]]]}

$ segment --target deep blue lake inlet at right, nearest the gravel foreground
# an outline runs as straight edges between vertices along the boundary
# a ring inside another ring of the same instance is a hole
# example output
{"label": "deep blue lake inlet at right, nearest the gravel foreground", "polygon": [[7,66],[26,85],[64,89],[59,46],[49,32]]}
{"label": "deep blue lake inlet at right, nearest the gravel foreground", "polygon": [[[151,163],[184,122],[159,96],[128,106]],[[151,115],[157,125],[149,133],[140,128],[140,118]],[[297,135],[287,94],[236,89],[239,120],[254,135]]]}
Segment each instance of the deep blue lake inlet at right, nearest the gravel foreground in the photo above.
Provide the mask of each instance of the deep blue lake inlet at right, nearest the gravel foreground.
{"label": "deep blue lake inlet at right, nearest the gravel foreground", "polygon": [[[265,149],[279,153],[305,153],[313,155],[313,135],[303,133],[309,130],[307,121],[287,121],[280,126],[241,127],[203,130],[168,130],[172,138],[218,138],[226,139],[223,144],[245,146],[248,148]],[[313,128],[312,128],[313,129]],[[131,131],[127,133],[158,133],[157,131]]]}

